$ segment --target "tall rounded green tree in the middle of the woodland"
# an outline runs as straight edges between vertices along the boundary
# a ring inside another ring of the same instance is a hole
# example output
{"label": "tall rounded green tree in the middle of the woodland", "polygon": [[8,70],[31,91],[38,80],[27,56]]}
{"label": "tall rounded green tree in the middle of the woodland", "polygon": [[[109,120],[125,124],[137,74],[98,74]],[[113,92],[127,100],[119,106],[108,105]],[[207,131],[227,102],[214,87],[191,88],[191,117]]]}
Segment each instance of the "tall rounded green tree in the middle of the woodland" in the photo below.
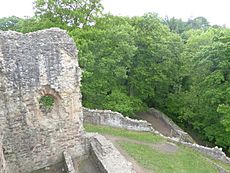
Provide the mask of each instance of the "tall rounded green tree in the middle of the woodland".
{"label": "tall rounded green tree in the middle of the woodland", "polygon": [[177,88],[181,39],[155,14],[134,17],[132,25],[138,49],[129,71],[129,90],[148,106],[163,108],[167,95]]}

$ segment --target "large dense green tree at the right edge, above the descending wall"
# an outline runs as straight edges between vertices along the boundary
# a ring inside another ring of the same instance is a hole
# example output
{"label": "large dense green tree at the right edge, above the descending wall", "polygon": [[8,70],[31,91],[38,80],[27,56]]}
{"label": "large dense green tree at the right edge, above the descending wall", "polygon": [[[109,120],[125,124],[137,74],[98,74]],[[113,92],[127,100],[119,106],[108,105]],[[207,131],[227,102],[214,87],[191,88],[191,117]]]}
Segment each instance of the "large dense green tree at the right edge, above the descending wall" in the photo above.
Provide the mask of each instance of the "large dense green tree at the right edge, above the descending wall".
{"label": "large dense green tree at the right edge, above the descending wall", "polygon": [[204,140],[230,151],[230,30],[188,32],[182,54],[182,90],[169,96],[168,111]]}

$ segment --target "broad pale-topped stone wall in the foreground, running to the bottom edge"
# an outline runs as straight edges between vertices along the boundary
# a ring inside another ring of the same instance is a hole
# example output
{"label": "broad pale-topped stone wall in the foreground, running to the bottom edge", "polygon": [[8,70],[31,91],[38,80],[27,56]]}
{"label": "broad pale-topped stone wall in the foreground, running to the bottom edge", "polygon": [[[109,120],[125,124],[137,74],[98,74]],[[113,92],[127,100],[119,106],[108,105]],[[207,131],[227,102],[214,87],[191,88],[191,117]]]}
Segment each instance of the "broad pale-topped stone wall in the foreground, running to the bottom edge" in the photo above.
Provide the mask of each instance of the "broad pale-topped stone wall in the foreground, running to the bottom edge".
{"label": "broad pale-topped stone wall in the foreground, running to the bottom edge", "polygon": [[132,164],[104,136],[88,134],[90,155],[96,162],[100,173],[136,173]]}

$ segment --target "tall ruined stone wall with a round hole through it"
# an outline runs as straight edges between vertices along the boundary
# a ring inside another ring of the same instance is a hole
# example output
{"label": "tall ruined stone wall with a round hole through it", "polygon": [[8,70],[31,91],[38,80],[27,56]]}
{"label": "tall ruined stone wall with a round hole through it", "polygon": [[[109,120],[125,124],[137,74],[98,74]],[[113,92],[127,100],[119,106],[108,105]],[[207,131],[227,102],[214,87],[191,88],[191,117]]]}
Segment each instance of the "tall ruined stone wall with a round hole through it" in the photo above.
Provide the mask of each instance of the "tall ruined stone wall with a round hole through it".
{"label": "tall ruined stone wall with a round hole through it", "polygon": [[[84,154],[80,77],[66,32],[0,32],[0,124],[10,173],[57,163],[66,149]],[[54,98],[49,111],[39,103],[46,95]]]}

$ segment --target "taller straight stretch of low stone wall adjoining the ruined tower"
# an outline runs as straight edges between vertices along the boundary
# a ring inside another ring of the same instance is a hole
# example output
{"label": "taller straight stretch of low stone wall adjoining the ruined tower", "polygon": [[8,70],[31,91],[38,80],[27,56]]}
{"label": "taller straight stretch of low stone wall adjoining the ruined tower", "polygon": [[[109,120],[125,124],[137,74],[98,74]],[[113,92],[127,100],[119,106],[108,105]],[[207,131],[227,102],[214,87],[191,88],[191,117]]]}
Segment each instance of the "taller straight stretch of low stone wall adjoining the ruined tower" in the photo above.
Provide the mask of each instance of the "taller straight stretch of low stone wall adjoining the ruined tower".
{"label": "taller straight stretch of low stone wall adjoining the ruined tower", "polygon": [[93,110],[83,108],[83,119],[84,123],[106,125],[135,131],[153,131],[151,124],[147,121],[134,120],[110,110]]}

